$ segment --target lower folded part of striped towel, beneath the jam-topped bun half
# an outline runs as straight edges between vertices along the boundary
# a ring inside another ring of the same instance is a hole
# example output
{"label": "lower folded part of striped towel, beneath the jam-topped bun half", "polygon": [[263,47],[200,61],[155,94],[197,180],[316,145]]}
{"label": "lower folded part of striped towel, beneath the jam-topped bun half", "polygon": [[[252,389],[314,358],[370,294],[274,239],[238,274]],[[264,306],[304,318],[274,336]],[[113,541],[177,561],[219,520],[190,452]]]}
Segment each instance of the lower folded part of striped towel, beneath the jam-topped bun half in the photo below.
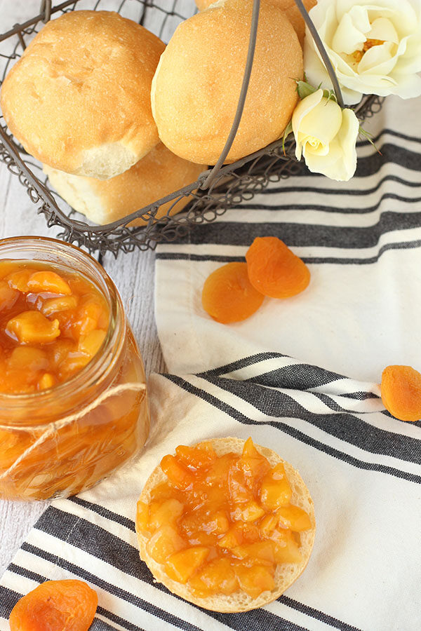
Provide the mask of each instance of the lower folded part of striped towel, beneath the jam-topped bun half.
{"label": "lower folded part of striped towel, beneath the jam-topped bun half", "polygon": [[[92,629],[415,631],[420,627],[420,423],[385,412],[376,384],[279,353],[201,374],[153,375],[142,456],[94,489],[53,501],[0,585],[0,629],[46,579],[81,578],[99,596]],[[176,445],[249,435],[293,464],[314,498],[307,569],[272,604],[214,613],[154,583],[138,557],[142,486]]]}

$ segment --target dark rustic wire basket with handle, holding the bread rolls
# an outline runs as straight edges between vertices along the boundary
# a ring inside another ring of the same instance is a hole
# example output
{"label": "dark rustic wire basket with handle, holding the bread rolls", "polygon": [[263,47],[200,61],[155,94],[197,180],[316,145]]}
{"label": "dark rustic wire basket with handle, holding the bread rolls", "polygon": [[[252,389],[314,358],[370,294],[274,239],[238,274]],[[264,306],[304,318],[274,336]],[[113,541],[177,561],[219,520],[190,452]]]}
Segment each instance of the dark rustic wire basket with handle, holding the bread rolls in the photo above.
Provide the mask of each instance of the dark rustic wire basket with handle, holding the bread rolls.
{"label": "dark rustic wire basket with handle, holding the bread rolls", "polygon": [[[312,27],[301,0],[295,0],[295,2],[302,11],[307,25]],[[168,8],[164,8],[164,5]],[[287,140],[285,145],[282,140],[276,140],[250,156],[232,164],[223,165],[239,126],[246,100],[253,64],[259,6],[260,0],[254,0],[243,86],[232,129],[218,162],[213,168],[204,170],[196,182],[118,221],[104,226],[89,224],[86,217],[70,208],[49,185],[48,178],[42,171],[42,165],[29,156],[12,137],[4,118],[0,117],[0,161],[4,162],[11,172],[18,175],[31,200],[39,204],[38,212],[45,215],[48,226],[60,226],[62,230],[58,234],[59,238],[69,243],[83,245],[91,252],[96,250],[104,254],[108,251],[113,252],[115,256],[119,252],[131,252],[136,248],[153,250],[157,243],[176,240],[184,236],[194,224],[212,222],[228,208],[238,205],[243,200],[250,200],[256,193],[265,189],[269,182],[279,182],[291,175],[305,172],[305,165],[295,159],[293,140]],[[131,18],[154,32],[165,43],[169,41],[180,22],[196,12],[194,0],[156,0],[156,2],[153,0],[67,0],[57,6],[52,6],[51,0],[43,0],[39,15],[15,25],[13,29],[0,35],[1,83],[13,62],[22,55],[27,43],[39,32],[44,23],[52,16],[74,11],[76,8],[118,11],[124,17]],[[317,37],[316,33],[315,36]],[[334,73],[333,80],[335,80]],[[338,94],[340,102],[340,90],[337,86]],[[356,115],[361,120],[370,118],[381,109],[383,100],[382,97],[375,95],[364,97],[356,107]],[[189,201],[183,212],[177,215],[171,214],[178,201],[186,197]],[[168,202],[171,202],[171,205],[166,215],[156,219],[160,206]],[[146,225],[139,228],[129,227],[128,224],[138,217],[142,217],[147,222]]]}

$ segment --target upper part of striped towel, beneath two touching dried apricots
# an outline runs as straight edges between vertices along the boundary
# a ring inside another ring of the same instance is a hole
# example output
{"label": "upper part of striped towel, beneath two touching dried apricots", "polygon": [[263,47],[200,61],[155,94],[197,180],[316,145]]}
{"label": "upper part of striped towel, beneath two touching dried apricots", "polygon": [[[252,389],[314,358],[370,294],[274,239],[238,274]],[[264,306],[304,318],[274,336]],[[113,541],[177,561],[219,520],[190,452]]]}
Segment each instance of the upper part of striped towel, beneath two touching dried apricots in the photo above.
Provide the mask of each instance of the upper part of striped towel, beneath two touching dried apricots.
{"label": "upper part of striped towel, beneath two touching dried apricots", "polygon": [[[349,182],[302,175],[156,253],[156,323],[169,372],[197,373],[262,350],[353,379],[389,364],[421,369],[420,99],[388,97],[366,127]],[[243,261],[256,236],[277,236],[312,280],[288,300],[265,299],[252,318],[214,322],[201,308],[206,277]]]}

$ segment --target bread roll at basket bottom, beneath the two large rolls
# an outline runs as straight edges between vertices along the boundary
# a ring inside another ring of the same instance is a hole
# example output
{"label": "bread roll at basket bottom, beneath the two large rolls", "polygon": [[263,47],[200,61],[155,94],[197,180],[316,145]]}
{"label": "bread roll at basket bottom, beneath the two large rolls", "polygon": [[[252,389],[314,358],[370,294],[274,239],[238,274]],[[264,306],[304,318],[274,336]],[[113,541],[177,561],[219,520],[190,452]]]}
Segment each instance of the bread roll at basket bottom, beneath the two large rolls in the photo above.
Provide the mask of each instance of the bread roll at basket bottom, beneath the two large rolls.
{"label": "bread roll at basket bottom, beneath the two large rolls", "polygon": [[[69,175],[44,166],[44,172],[58,194],[74,210],[100,225],[130,215],[131,212],[192,184],[202,171],[202,165],[182,160],[161,142],[131,169],[112,179]],[[180,212],[188,201],[188,197],[182,198],[171,209],[171,215]],[[174,200],[163,204],[156,217],[166,215],[173,203]],[[141,226],[145,223],[145,219],[135,219],[131,225]]]}

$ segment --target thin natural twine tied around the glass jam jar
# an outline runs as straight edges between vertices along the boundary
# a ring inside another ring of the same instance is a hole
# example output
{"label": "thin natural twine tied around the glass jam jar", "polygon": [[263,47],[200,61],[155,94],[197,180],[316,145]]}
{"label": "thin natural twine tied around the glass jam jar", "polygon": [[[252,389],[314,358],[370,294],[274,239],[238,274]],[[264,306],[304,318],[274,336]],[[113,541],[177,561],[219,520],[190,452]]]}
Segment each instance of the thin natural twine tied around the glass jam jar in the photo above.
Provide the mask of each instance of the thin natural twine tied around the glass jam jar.
{"label": "thin natural twine tied around the glass jam jar", "polygon": [[[127,384],[120,384],[119,386],[110,388],[107,392],[103,392],[102,394],[100,394],[89,405],[86,405],[81,410],[79,410],[79,412],[75,412],[74,414],[69,414],[69,416],[65,416],[64,419],[60,419],[58,421],[53,421],[52,423],[48,423],[48,427],[46,431],[43,434],[41,434],[41,436],[39,436],[36,439],[36,441],[33,442],[32,445],[30,445],[30,447],[25,449],[25,452],[22,452],[22,454],[20,454],[18,459],[16,459],[15,462],[8,469],[6,469],[6,471],[0,474],[0,481],[6,479],[6,477],[8,477],[8,475],[10,475],[13,472],[13,470],[17,468],[20,465],[20,463],[23,460],[25,460],[25,458],[27,458],[27,456],[29,456],[29,454],[31,454],[34,451],[34,449],[39,447],[39,445],[42,445],[42,443],[45,442],[56,431],[62,430],[62,428],[65,428],[68,425],[71,425],[72,423],[74,423],[74,421],[79,421],[79,419],[82,419],[83,416],[86,416],[86,414],[89,414],[94,409],[99,407],[104,401],[106,401],[107,399],[111,397],[114,397],[115,395],[120,395],[121,393],[129,392],[129,391],[142,392],[145,390],[146,390],[146,384],[141,384],[140,382],[128,382]],[[10,430],[10,429],[11,429],[10,426],[0,425],[0,430]],[[18,428],[14,427],[13,430],[33,431],[34,426],[30,426],[30,427],[21,426]]]}

